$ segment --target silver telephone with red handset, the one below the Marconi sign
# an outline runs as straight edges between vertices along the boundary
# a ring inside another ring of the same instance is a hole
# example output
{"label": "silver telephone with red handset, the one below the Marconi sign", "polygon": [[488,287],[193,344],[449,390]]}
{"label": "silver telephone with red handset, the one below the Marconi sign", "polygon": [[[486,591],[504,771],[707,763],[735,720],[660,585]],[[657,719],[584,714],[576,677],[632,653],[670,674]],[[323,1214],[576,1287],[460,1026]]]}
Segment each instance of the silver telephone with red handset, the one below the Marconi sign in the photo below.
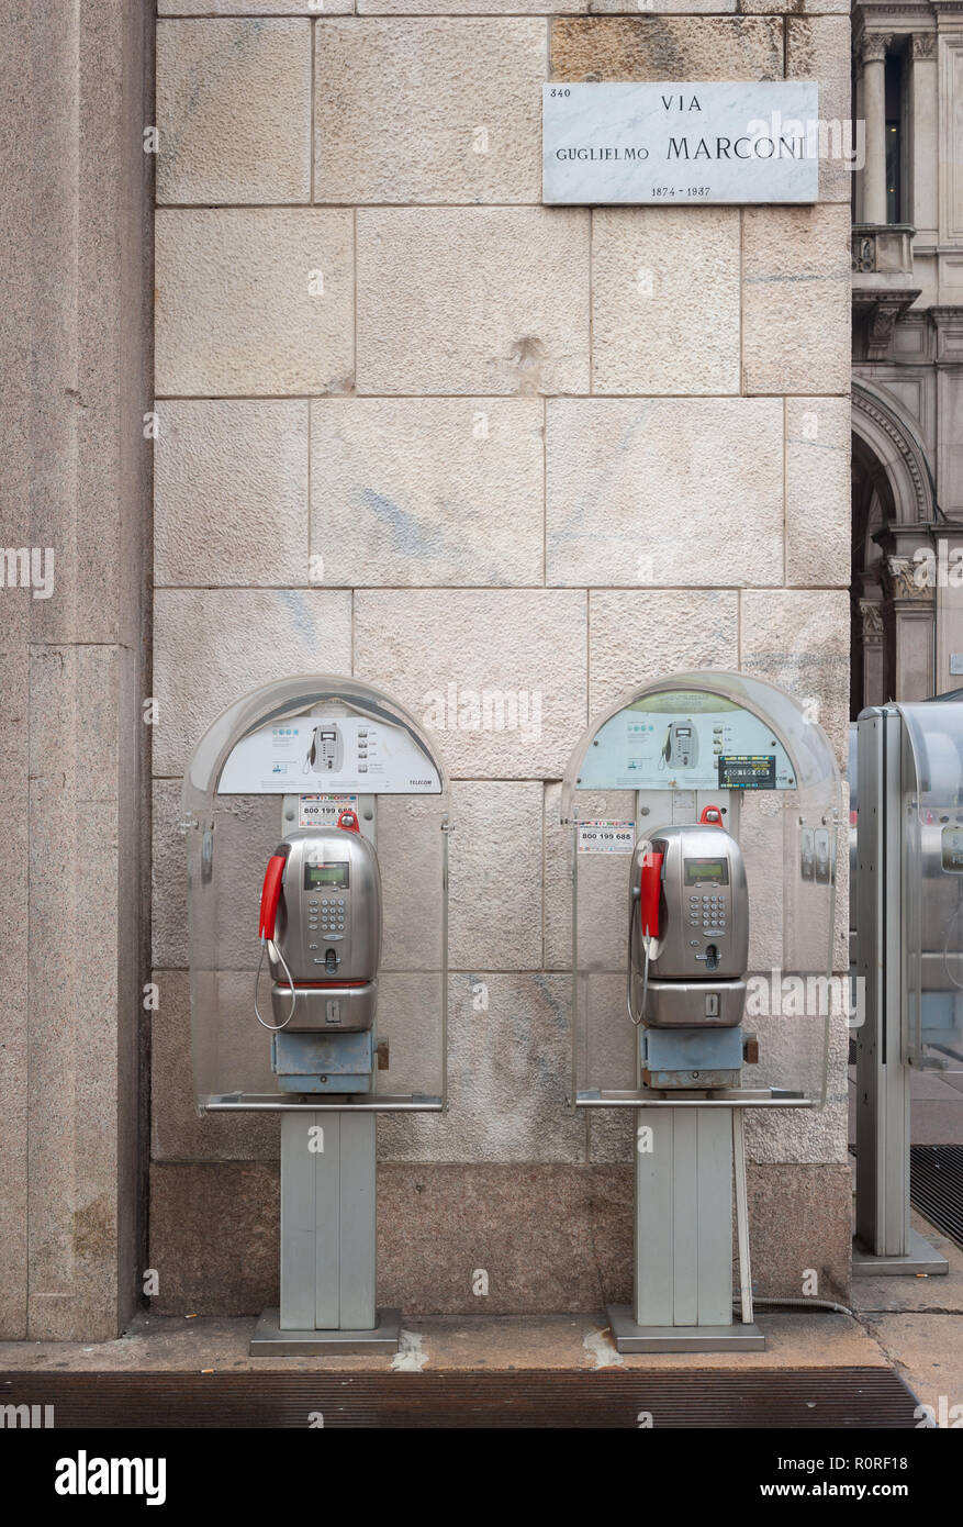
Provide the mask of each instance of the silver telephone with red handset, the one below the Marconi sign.
{"label": "silver telephone with red handset, the one below the Marconi sign", "polygon": [[739,843],[707,806],[636,844],[626,1003],[646,1086],[739,1086],[749,899]]}

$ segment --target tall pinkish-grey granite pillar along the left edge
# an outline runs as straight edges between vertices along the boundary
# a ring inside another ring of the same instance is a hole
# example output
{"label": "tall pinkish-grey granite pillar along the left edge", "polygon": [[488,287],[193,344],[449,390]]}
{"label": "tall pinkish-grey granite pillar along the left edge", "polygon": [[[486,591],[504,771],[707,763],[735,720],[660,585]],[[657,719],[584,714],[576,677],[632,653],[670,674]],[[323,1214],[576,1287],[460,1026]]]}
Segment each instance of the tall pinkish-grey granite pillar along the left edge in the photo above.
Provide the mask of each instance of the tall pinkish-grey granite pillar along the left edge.
{"label": "tall pinkish-grey granite pillar along the left edge", "polygon": [[[11,1341],[116,1336],[145,1266],[153,31],[148,8],[128,0],[0,0],[0,1338]],[[20,548],[43,586],[18,576]]]}

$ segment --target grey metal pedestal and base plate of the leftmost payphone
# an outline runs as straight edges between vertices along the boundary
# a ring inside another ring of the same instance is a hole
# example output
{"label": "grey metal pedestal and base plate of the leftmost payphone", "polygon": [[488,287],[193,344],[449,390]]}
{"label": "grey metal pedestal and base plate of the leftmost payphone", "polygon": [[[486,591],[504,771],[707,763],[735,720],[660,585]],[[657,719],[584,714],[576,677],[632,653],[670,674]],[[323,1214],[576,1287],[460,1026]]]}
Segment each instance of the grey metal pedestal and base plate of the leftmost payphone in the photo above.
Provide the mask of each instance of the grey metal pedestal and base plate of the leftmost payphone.
{"label": "grey metal pedestal and base plate of the leftmost payphone", "polygon": [[281,1118],[281,1309],[266,1310],[252,1358],[395,1353],[400,1310],[375,1309],[377,1115],[291,1110]]}

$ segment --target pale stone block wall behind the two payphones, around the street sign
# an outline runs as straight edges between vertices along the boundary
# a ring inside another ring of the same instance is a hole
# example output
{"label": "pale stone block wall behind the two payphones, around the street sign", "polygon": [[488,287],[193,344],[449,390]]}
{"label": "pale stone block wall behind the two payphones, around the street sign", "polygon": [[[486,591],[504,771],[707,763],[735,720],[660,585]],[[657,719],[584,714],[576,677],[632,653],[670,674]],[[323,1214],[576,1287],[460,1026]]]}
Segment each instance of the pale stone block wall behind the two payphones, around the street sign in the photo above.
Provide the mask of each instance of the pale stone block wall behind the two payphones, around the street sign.
{"label": "pale stone block wall behind the two payphones, around the street sign", "polygon": [[[380,1296],[476,1310],[485,1267],[491,1312],[594,1309],[627,1293],[632,1141],[563,1112],[559,779],[592,713],[685,667],[786,686],[842,760],[849,179],[800,208],[545,208],[540,89],[816,78],[845,116],[849,9],[159,9],[156,1307],[276,1295],[276,1121],[191,1110],[177,799],[223,705],[317,669],[418,716],[449,684],[540,696],[539,727],[436,733],[452,1110],[380,1124]],[[847,1287],[844,1064],[839,1019],[826,1112],[752,1125],[762,1293]]]}

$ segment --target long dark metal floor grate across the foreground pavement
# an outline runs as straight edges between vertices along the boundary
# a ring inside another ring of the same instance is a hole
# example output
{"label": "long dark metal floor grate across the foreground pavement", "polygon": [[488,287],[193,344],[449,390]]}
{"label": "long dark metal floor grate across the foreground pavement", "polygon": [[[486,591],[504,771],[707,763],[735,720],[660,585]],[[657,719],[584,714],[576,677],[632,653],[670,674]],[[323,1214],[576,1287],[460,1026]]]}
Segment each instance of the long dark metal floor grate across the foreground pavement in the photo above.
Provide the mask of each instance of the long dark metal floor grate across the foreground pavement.
{"label": "long dark metal floor grate across the foreground pavement", "polygon": [[891,1368],[572,1373],[5,1373],[64,1428],[914,1428]]}

